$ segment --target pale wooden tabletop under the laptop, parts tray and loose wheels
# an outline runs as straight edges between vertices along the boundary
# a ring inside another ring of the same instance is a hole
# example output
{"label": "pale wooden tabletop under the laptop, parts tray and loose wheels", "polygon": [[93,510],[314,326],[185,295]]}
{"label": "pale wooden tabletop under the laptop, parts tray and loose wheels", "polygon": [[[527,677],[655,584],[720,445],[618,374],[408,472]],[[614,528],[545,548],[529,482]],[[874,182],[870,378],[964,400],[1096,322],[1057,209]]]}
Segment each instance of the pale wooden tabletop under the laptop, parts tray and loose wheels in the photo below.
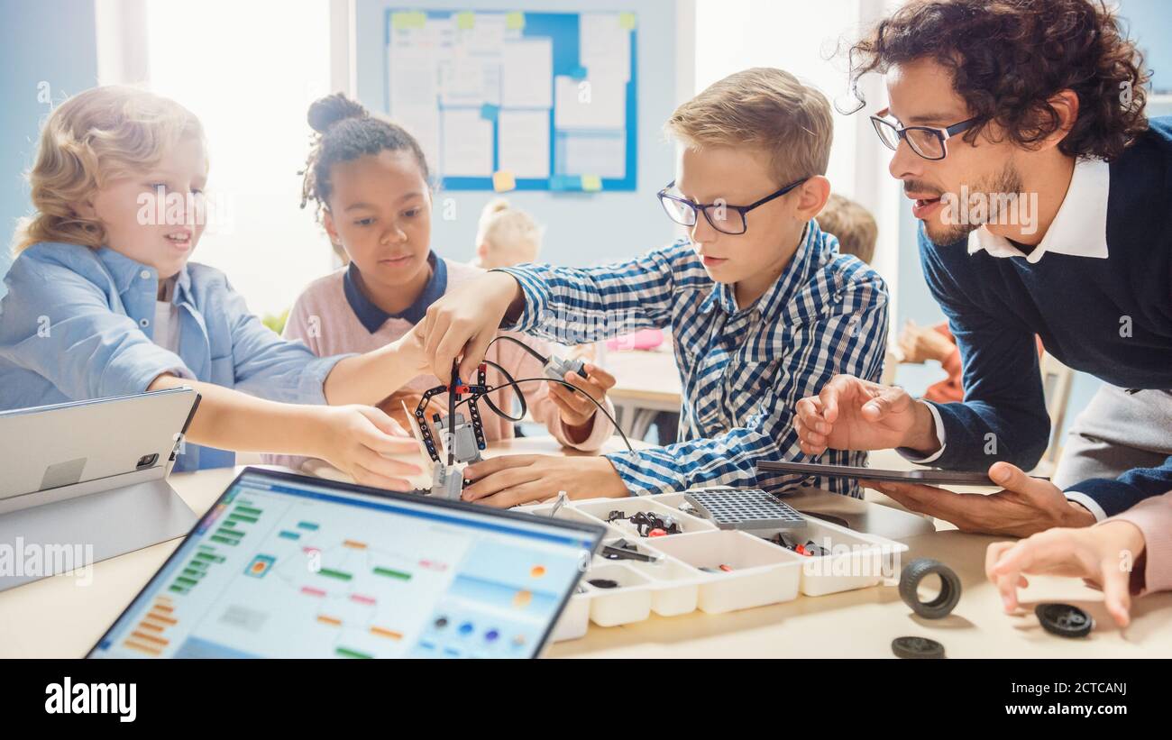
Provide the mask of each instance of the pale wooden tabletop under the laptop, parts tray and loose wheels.
{"label": "pale wooden tabletop under the laptop, parts tray and loose wheels", "polygon": [[[490,454],[581,454],[552,438],[495,444]],[[179,473],[171,482],[196,512],[205,512],[238,470]],[[870,494],[868,494],[870,498]],[[931,637],[950,657],[1172,657],[1172,594],[1137,599],[1132,624],[1120,630],[1103,609],[1102,595],[1074,578],[1034,577],[1023,591],[1028,607],[1062,601],[1090,612],[1098,623],[1089,638],[1063,639],[1042,630],[1033,612],[1002,614],[996,589],[984,580],[984,550],[995,537],[936,530],[933,522],[871,500],[822,491],[788,499],[800,511],[840,516],[861,532],[906,542],[913,557],[935,557],[960,576],[963,595],[940,621],[912,614],[894,585],[799,597],[796,601],[724,615],[696,611],[679,617],[653,615],[618,628],[591,625],[581,639],[547,649],[553,657],[891,657],[891,640]],[[93,568],[89,584],[74,576],[45,578],[0,592],[0,658],[83,656],[145,585],[179,540],[115,557]]]}

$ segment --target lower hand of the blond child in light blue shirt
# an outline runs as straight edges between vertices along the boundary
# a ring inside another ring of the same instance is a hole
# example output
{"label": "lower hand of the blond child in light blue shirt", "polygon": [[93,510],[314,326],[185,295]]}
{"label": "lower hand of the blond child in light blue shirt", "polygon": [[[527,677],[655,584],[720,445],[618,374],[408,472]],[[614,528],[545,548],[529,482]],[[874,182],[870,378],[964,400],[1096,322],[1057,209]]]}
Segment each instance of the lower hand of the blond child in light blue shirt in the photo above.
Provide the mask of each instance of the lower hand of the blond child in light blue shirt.
{"label": "lower hand of the blond child in light blue shirt", "polygon": [[402,426],[373,406],[316,406],[321,420],[318,457],[350,475],[354,482],[391,491],[411,491],[407,477],[417,465],[386,455],[417,457],[418,444]]}

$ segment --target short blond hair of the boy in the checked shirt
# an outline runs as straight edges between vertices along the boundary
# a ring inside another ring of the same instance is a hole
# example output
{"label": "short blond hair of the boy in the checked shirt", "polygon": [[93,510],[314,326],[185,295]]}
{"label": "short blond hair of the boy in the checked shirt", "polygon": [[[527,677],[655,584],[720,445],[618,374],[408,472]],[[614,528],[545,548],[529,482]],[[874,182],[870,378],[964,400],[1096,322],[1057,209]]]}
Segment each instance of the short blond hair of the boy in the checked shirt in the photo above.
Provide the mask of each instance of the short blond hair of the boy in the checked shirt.
{"label": "short blond hair of the boy in the checked shirt", "polygon": [[825,174],[834,137],[826,96],[772,67],[754,67],[714,82],[676,108],[665,129],[697,149],[761,149],[769,155],[779,185]]}

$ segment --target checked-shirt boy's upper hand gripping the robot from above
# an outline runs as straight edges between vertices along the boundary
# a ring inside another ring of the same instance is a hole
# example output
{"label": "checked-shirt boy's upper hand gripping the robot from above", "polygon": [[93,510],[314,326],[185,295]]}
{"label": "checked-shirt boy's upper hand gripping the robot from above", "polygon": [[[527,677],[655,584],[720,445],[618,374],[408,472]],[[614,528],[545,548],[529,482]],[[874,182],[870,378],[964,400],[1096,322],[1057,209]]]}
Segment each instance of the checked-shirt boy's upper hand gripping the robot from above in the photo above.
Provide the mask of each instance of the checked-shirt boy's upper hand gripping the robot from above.
{"label": "checked-shirt boy's upper hand gripping the robot from above", "polygon": [[451,377],[451,363],[458,357],[459,377],[475,378],[505,314],[519,309],[523,300],[512,275],[488,273],[432,303],[423,320],[423,351],[436,377]]}

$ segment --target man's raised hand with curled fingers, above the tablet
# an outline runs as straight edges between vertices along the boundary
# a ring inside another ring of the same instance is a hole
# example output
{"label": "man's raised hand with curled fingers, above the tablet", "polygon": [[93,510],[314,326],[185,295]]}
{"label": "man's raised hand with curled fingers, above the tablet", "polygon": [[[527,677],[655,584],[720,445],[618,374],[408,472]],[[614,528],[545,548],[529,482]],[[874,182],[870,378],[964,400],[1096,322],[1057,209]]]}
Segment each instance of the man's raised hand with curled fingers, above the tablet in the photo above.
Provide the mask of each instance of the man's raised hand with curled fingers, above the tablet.
{"label": "man's raised hand with curled fingers, above the tablet", "polygon": [[795,429],[802,452],[911,447],[940,448],[928,406],[901,388],[837,375],[817,396],[797,403]]}

